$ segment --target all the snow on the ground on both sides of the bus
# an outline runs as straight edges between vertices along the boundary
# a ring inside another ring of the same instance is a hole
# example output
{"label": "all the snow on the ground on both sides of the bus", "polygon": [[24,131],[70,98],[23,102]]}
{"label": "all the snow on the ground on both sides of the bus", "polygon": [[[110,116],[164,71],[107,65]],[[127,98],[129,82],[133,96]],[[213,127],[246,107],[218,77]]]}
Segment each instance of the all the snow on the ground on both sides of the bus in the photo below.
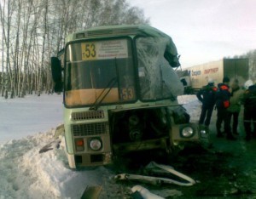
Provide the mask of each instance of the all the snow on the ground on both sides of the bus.
{"label": "all the snow on the ground on both sides of the bus", "polygon": [[[191,119],[198,120],[200,104],[195,95],[178,100],[192,113]],[[64,142],[53,139],[54,128],[62,122],[61,95],[0,99],[0,109],[0,199],[80,198],[87,185],[113,189],[114,184],[106,185],[113,174],[104,167],[68,168]],[[39,153],[51,142],[53,150]]]}

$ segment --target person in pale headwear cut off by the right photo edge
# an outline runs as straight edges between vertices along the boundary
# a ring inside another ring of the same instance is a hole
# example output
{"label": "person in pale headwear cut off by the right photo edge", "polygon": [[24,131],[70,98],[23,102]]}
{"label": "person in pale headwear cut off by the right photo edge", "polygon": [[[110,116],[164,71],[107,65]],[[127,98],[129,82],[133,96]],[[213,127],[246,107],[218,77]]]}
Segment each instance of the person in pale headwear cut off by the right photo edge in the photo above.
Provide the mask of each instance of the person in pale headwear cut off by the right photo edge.
{"label": "person in pale headwear cut off by the right photo edge", "polygon": [[[243,125],[246,132],[246,140],[250,140],[253,136],[256,136],[256,85],[252,80],[245,82],[246,91],[243,95],[244,115]],[[251,122],[253,122],[253,131],[251,128]]]}

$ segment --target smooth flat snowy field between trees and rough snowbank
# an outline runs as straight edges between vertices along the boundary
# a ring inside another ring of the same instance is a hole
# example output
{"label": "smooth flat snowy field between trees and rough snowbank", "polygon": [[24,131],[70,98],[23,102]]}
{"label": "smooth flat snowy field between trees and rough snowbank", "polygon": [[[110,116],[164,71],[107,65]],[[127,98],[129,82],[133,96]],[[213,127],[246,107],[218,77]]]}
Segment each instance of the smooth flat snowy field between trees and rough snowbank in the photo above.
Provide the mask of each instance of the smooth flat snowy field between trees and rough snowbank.
{"label": "smooth flat snowy field between trees and rough snowbank", "polygon": [[9,139],[45,132],[62,122],[62,95],[26,95],[25,98],[0,98],[0,145]]}

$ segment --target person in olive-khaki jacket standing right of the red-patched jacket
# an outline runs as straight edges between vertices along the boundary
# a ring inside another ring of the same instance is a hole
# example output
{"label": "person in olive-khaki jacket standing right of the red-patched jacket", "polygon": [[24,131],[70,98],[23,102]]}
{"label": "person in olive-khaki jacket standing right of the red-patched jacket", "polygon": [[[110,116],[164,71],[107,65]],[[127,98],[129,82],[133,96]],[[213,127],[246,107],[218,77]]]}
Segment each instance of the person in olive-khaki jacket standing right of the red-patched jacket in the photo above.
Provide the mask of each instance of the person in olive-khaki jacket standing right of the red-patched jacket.
{"label": "person in olive-khaki jacket standing right of the red-patched jacket", "polygon": [[238,117],[241,111],[241,99],[243,97],[243,90],[239,87],[239,82],[237,79],[234,80],[231,84],[231,96],[230,96],[230,106],[228,107],[228,123],[231,124],[231,120],[233,117],[232,123],[232,133],[237,133],[238,127]]}

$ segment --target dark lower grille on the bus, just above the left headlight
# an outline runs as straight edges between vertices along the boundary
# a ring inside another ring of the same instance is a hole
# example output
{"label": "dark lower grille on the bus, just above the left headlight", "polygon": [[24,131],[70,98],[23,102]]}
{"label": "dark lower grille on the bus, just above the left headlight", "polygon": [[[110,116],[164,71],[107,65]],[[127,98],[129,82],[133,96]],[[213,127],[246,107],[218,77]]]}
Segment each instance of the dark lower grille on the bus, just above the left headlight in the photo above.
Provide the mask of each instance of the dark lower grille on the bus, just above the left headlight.
{"label": "dark lower grille on the bus, just above the left headlight", "polygon": [[74,137],[109,133],[108,122],[74,124],[71,129]]}

